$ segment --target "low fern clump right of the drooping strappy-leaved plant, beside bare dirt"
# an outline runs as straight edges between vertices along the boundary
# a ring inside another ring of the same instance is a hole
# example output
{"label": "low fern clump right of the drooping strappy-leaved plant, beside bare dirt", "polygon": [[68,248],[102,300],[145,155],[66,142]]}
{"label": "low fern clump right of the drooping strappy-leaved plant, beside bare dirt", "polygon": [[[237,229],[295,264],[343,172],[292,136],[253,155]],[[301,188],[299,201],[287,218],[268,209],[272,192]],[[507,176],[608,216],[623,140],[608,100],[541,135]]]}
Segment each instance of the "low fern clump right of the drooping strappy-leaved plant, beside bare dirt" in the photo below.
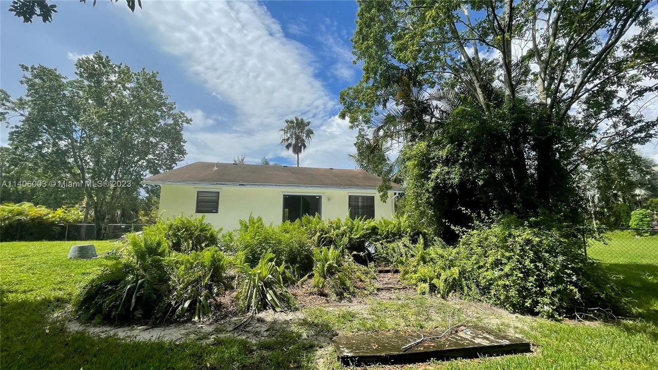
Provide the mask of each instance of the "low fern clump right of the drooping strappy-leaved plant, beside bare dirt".
{"label": "low fern clump right of the drooping strappy-leaved plant, beside bare dirt", "polygon": [[311,285],[320,292],[342,299],[372,288],[368,286],[372,271],[355,263],[340,248],[316,248],[313,255],[315,264]]}

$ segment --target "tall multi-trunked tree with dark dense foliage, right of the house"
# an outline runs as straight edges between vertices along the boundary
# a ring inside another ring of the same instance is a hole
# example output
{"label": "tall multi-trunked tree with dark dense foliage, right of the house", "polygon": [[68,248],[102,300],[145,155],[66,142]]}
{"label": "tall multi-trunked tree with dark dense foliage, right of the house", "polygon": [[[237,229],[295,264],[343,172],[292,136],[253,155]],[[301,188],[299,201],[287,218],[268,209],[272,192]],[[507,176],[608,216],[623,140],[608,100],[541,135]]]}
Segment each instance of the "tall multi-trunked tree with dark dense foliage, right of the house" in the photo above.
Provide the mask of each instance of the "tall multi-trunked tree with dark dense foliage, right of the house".
{"label": "tall multi-trunked tree with dark dense foliage, right of the house", "polygon": [[357,163],[406,173],[453,224],[485,210],[577,215],[586,159],[658,134],[642,115],[658,78],[648,5],[359,1],[363,78],[341,93]]}

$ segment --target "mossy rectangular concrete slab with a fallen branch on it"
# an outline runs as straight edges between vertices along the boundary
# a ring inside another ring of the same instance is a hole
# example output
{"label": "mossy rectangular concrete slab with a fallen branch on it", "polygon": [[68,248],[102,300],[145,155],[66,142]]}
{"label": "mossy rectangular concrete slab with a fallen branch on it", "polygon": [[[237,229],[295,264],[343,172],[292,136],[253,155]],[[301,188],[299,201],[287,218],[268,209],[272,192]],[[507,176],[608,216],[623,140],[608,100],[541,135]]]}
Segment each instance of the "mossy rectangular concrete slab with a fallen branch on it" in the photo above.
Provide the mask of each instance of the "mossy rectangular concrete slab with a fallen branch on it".
{"label": "mossy rectangular concrete slab with a fallen branch on it", "polygon": [[424,340],[403,350],[404,346],[420,338],[440,336],[443,332],[445,330],[346,334],[334,337],[332,344],[343,365],[417,363],[430,359],[447,360],[531,352],[530,342],[527,340],[482,327],[460,327],[442,338]]}

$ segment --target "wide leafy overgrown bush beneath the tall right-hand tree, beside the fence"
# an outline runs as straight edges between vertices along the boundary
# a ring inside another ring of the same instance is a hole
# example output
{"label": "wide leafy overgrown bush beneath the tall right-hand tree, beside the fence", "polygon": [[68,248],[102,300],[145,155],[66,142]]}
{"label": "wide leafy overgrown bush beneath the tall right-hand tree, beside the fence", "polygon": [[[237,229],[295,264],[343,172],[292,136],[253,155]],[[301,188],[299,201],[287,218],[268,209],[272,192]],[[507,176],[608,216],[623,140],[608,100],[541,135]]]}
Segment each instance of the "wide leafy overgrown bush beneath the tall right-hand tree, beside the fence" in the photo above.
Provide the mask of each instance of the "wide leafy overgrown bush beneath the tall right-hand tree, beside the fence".
{"label": "wide leafy overgrown bush beneath the tall right-hand tree, beside the fence", "polygon": [[517,313],[558,318],[594,307],[623,313],[611,277],[567,230],[501,222],[471,230],[455,247],[433,245],[403,278],[424,292],[485,300]]}

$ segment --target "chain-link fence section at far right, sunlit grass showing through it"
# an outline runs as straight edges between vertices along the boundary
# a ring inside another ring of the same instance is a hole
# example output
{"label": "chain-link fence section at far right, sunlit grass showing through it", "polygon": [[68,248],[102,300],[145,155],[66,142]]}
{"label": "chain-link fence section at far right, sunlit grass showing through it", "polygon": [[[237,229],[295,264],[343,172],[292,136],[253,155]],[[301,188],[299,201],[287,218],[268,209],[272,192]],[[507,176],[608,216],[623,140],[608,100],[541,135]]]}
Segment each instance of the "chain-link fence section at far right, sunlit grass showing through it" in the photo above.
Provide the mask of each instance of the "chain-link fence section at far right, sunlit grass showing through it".
{"label": "chain-link fence section at far right, sunlit grass showing through it", "polygon": [[603,263],[658,266],[658,229],[597,228],[587,254]]}

